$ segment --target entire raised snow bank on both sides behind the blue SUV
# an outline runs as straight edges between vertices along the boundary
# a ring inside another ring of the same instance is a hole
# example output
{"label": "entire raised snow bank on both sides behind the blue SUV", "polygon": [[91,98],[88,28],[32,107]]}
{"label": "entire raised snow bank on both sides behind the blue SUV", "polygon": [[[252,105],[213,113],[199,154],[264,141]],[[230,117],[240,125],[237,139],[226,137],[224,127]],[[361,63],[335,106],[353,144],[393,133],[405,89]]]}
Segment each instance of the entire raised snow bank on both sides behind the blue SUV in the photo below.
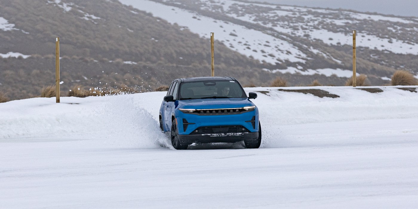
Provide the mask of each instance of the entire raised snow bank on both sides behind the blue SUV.
{"label": "entire raised snow bank on both sides behind the blue SUV", "polygon": [[[352,87],[254,87],[260,109],[264,148],[381,141],[384,130],[408,129],[418,135],[418,93],[396,87],[371,93]],[[413,87],[416,88],[416,87]],[[321,89],[338,98],[283,92],[279,89]],[[0,104],[1,138],[83,139],[84,143],[127,148],[170,147],[159,131],[158,110],[166,92],[108,97],[32,98]],[[356,123],[358,125],[356,125]],[[350,135],[335,138],[339,129]],[[359,133],[361,132],[361,133]],[[386,140],[392,140],[390,137]],[[237,146],[233,146],[237,148]],[[242,147],[238,145],[238,147]]]}

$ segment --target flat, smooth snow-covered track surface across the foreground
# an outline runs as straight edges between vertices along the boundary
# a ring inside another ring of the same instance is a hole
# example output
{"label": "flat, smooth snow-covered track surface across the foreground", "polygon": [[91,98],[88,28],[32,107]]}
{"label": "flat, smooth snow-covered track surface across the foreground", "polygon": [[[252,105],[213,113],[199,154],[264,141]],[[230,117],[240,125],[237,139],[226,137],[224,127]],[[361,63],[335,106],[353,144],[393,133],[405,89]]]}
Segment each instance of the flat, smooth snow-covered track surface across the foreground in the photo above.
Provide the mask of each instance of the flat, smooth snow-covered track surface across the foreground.
{"label": "flat, smooth snow-covered track surface across the foreground", "polygon": [[415,207],[418,143],[404,139],[176,151],[5,141],[0,202],[4,208]]}

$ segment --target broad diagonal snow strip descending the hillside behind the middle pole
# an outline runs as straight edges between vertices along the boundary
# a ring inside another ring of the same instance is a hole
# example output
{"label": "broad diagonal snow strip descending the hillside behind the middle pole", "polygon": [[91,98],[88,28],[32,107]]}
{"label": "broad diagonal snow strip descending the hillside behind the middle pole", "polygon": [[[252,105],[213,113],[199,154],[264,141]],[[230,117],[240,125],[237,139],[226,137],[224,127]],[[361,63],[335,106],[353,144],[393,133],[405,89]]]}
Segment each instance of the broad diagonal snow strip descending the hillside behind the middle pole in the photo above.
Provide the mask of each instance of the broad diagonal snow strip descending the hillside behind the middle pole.
{"label": "broad diagonal snow strip descending the hillside behind the middle pole", "polygon": [[163,18],[169,23],[177,23],[189,28],[191,32],[197,33],[201,37],[210,38],[210,33],[213,32],[214,39],[222,41],[225,46],[260,61],[264,60],[271,64],[283,63],[283,60],[305,63],[302,58],[307,57],[288,41],[246,28],[243,25],[216,20],[151,0],[120,0],[120,2],[150,12],[155,17]]}

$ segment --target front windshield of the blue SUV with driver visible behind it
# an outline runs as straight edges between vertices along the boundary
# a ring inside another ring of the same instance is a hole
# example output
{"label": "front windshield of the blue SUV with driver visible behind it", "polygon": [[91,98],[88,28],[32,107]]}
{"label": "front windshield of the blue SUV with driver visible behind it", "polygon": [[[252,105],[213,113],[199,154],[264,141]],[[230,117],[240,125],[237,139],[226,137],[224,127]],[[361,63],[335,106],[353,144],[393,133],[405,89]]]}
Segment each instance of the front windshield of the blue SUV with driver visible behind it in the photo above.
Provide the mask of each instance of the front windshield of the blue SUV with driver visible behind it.
{"label": "front windshield of the blue SUV with driver visible behind it", "polygon": [[179,99],[244,98],[245,92],[237,81],[184,82]]}

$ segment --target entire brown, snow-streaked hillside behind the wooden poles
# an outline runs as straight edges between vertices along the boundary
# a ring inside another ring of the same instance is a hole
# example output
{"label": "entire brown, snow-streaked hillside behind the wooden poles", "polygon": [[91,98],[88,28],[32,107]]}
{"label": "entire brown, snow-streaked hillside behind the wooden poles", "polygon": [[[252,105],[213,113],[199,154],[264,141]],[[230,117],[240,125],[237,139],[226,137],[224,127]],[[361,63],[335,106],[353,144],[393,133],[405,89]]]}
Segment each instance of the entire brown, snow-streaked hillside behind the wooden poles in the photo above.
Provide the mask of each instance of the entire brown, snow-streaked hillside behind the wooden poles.
{"label": "entire brown, snow-streaked hillside behind the wooden poles", "polygon": [[173,77],[207,76],[211,32],[217,76],[245,86],[269,86],[277,76],[288,86],[342,86],[352,75],[353,29],[357,73],[370,85],[388,84],[398,69],[418,77],[414,17],[240,0],[3,1],[0,92],[33,98],[53,85],[57,36],[66,92],[145,92]]}

